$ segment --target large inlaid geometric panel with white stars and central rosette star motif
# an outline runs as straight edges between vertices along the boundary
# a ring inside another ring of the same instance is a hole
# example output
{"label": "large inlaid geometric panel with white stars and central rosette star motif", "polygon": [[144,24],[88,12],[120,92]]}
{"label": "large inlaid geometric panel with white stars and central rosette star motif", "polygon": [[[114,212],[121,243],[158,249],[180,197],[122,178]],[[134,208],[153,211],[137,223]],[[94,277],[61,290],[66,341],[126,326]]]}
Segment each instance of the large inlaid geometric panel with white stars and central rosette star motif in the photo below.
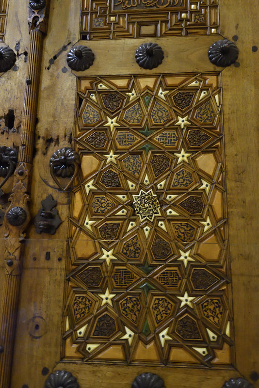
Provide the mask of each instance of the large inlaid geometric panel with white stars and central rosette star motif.
{"label": "large inlaid geometric panel with white stars and central rosette star motif", "polygon": [[217,73],[78,79],[64,358],[233,361]]}

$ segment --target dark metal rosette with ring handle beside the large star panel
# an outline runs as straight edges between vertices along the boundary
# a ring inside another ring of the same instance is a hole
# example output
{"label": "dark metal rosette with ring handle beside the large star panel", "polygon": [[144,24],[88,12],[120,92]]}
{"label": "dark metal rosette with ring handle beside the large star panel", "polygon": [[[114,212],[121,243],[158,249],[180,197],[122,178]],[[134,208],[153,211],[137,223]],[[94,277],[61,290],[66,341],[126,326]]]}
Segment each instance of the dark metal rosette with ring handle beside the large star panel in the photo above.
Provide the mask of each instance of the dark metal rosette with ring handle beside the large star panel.
{"label": "dark metal rosette with ring handle beside the large star panel", "polygon": [[[80,159],[78,153],[70,147],[64,147],[54,152],[49,160],[50,174],[58,187],[66,191],[75,179],[79,169]],[[71,178],[64,187],[58,178]]]}

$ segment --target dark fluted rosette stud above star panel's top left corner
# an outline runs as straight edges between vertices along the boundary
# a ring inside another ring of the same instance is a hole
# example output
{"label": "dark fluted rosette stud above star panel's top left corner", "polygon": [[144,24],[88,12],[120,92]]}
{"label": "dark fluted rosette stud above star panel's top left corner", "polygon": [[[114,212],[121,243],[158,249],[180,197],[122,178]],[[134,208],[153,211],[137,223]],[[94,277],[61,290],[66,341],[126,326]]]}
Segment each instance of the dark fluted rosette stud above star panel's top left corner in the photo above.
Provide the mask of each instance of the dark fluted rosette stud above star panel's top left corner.
{"label": "dark fluted rosette stud above star panel's top left corner", "polygon": [[75,71],[84,71],[93,65],[95,54],[86,46],[75,46],[67,54],[67,65]]}

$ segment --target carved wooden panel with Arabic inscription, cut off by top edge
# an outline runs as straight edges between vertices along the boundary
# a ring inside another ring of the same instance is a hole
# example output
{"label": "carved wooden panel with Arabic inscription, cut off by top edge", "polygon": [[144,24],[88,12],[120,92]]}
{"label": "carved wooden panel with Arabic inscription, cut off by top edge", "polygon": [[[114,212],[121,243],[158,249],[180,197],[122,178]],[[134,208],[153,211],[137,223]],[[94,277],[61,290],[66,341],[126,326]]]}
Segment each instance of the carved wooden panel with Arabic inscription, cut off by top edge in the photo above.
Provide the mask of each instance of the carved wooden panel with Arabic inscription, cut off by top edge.
{"label": "carved wooden panel with Arabic inscription, cut off by top edge", "polygon": [[85,0],[81,39],[219,33],[218,0]]}

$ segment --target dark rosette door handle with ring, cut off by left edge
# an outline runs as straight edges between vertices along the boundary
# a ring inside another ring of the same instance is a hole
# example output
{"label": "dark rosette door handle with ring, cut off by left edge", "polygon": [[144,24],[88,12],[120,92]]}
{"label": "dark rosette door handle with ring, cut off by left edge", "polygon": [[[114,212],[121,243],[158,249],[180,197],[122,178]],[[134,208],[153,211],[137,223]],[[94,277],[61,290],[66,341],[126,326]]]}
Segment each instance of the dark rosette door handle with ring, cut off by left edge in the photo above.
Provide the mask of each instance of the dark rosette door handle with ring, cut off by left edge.
{"label": "dark rosette door handle with ring, cut off by left edge", "polygon": [[4,178],[0,183],[0,196],[3,195],[1,187],[16,169],[17,157],[16,148],[0,146],[0,177]]}

